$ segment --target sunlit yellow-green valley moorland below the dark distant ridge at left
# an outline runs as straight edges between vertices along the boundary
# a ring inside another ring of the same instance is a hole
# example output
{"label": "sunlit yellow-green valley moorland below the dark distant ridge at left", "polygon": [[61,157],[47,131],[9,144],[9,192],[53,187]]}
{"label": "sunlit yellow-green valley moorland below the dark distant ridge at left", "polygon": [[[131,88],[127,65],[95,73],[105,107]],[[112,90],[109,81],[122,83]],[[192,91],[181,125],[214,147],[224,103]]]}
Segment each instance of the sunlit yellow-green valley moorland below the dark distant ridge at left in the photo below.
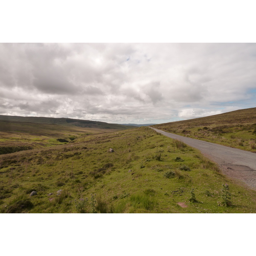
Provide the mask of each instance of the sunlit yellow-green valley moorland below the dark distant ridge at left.
{"label": "sunlit yellow-green valley moorland below the dark distant ridge at left", "polygon": [[[62,145],[86,134],[110,131],[116,131],[116,129],[0,120],[0,154]],[[59,138],[65,139],[67,142],[57,141]]]}

